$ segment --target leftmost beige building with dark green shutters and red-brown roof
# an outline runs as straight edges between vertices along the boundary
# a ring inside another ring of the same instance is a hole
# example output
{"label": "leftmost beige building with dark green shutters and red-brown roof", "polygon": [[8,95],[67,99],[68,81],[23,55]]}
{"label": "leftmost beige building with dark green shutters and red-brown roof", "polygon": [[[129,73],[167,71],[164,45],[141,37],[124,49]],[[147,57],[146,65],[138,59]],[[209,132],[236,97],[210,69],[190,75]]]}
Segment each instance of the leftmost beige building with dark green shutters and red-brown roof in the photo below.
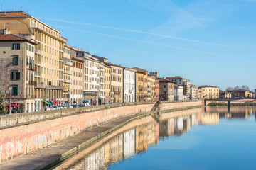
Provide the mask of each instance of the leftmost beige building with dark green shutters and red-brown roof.
{"label": "leftmost beige building with dark green shutters and red-brown roof", "polygon": [[[6,32],[5,32],[6,33]],[[35,43],[16,35],[0,35],[0,87],[1,94],[9,101],[9,86],[11,90],[11,106],[25,112],[35,111],[34,76],[35,76]],[[11,108],[14,111],[14,108]]]}

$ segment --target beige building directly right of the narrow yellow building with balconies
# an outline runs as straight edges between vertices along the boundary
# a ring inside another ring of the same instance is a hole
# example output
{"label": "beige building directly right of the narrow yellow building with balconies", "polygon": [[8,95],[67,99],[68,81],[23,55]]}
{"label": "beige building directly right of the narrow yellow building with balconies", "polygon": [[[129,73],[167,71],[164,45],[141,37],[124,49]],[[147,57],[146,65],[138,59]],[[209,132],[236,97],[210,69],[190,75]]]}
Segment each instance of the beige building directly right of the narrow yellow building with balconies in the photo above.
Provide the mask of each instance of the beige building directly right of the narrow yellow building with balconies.
{"label": "beige building directly right of the narrow yellow building with balconies", "polygon": [[79,57],[71,56],[71,91],[70,104],[82,104],[82,93],[84,89],[84,60]]}

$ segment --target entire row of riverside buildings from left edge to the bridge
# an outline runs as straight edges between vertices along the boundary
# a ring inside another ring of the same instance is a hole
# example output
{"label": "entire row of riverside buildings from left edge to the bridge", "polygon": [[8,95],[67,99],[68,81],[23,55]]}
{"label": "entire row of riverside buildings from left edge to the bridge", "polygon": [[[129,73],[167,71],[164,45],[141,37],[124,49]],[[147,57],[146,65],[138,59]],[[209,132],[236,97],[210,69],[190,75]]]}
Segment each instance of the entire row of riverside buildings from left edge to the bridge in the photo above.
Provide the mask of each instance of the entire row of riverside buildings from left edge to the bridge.
{"label": "entire row of riverside buildings from left edge to the bridge", "polygon": [[67,40],[28,13],[0,12],[0,90],[6,100],[31,112],[46,105],[219,98],[218,87],[112,64]]}

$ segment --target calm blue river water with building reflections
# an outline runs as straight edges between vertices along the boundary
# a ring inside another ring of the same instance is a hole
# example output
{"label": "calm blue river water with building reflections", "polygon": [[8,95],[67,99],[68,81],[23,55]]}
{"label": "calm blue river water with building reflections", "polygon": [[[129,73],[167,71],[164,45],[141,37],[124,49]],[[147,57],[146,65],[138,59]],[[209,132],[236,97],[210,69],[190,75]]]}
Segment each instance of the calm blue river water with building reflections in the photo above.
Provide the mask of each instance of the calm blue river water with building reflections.
{"label": "calm blue river water with building reflections", "polygon": [[213,106],[148,116],[55,169],[256,169],[255,112]]}

